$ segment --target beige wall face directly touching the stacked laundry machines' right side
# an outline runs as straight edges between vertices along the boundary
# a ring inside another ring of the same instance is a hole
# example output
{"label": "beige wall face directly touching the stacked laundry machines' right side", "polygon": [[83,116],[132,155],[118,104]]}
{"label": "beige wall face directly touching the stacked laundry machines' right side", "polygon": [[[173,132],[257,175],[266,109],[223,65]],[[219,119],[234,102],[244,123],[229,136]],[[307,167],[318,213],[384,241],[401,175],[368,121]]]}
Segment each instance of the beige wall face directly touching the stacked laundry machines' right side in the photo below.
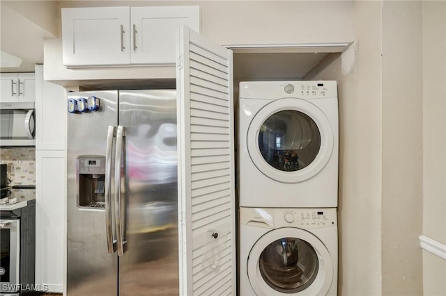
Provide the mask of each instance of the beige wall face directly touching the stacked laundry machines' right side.
{"label": "beige wall face directly touching the stacked laundry machines' right side", "polygon": [[305,79],[339,91],[339,295],[381,294],[381,3],[354,3],[355,43]]}

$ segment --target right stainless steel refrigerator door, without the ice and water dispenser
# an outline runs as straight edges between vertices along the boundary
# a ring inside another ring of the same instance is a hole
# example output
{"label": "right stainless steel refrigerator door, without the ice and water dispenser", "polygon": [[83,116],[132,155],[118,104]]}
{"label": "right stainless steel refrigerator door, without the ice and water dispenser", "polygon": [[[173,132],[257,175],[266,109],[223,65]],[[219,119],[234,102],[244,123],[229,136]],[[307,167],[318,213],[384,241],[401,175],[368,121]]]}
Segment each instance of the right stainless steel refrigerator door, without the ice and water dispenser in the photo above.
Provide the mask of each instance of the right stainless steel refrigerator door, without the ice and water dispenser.
{"label": "right stainless steel refrigerator door, without the ice and water dispenser", "polygon": [[119,125],[119,295],[178,295],[176,91],[121,90]]}

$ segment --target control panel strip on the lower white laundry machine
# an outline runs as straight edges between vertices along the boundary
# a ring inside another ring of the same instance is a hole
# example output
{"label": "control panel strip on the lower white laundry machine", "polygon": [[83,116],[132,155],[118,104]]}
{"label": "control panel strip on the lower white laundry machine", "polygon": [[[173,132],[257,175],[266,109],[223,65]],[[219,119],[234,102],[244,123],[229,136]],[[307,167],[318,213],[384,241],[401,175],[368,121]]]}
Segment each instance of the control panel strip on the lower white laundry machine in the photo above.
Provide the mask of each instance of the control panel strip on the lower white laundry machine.
{"label": "control panel strip on the lower white laundry machine", "polygon": [[240,223],[263,228],[297,227],[315,229],[337,226],[336,208],[245,208]]}

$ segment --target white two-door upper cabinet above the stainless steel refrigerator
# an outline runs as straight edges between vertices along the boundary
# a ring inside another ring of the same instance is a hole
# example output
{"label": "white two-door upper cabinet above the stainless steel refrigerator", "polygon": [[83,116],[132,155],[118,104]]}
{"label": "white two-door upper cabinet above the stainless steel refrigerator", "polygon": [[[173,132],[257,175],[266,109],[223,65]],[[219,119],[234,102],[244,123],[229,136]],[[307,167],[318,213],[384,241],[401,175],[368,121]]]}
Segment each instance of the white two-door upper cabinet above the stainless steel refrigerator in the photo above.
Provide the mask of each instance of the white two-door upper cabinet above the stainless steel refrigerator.
{"label": "white two-door upper cabinet above the stainless steel refrigerator", "polygon": [[199,32],[199,6],[63,8],[63,65],[174,65],[181,24]]}

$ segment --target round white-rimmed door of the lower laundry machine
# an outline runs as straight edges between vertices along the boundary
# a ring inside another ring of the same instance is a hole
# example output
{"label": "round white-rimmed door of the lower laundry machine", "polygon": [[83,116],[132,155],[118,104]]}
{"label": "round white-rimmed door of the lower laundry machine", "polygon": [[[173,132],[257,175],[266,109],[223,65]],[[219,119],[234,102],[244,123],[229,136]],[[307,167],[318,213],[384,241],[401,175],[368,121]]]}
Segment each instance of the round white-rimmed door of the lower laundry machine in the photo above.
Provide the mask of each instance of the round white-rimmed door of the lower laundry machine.
{"label": "round white-rimmed door of the lower laundry machine", "polygon": [[333,264],[316,236],[284,227],[257,240],[249,252],[247,273],[256,295],[325,295],[332,283]]}

